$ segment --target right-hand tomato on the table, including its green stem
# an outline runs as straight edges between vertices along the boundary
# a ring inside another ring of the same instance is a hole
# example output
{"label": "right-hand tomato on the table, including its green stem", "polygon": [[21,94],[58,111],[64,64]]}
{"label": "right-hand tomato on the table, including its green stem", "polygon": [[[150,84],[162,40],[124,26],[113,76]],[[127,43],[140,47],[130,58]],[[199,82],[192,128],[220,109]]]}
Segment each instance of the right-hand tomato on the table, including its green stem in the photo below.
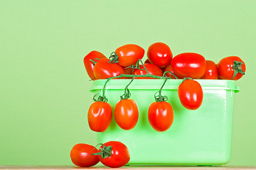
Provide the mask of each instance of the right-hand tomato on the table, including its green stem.
{"label": "right-hand tomato on the table, including its green stem", "polygon": [[129,162],[130,155],[126,145],[118,141],[106,142],[100,147],[100,162],[111,168],[119,168]]}

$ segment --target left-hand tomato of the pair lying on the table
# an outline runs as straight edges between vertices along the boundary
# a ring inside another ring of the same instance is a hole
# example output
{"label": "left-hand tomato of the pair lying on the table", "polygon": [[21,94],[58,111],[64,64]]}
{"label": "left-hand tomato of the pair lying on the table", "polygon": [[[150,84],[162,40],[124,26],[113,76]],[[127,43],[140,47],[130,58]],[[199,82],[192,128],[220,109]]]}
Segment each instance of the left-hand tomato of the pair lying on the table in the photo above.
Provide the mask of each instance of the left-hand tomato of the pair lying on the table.
{"label": "left-hand tomato of the pair lying on the table", "polygon": [[77,144],[70,151],[70,158],[73,164],[80,167],[94,166],[100,159],[97,155],[91,155],[97,153],[98,150],[92,145]]}

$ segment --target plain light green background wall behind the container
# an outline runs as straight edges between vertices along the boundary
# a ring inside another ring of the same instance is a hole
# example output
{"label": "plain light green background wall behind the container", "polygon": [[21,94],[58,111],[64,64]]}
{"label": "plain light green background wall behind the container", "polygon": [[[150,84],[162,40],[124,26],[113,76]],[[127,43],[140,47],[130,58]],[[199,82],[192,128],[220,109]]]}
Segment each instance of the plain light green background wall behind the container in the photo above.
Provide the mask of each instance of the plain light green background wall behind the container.
{"label": "plain light green background wall behind the container", "polygon": [[1,1],[0,164],[72,164],[73,145],[96,145],[83,57],[165,42],[174,55],[245,61],[228,164],[256,165],[255,18],[255,0]]}

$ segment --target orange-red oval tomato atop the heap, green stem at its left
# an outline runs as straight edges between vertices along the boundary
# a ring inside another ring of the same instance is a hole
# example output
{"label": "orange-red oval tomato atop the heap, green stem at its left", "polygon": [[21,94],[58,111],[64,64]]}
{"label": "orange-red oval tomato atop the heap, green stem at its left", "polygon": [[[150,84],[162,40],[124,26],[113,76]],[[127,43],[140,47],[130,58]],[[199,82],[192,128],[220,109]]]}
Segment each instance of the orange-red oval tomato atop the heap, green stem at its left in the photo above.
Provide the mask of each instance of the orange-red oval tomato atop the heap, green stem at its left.
{"label": "orange-red oval tomato atop the heap, green stem at its left", "polygon": [[145,50],[139,45],[128,44],[118,47],[115,52],[119,58],[118,64],[122,67],[128,67],[132,64],[136,64],[139,59],[142,59]]}

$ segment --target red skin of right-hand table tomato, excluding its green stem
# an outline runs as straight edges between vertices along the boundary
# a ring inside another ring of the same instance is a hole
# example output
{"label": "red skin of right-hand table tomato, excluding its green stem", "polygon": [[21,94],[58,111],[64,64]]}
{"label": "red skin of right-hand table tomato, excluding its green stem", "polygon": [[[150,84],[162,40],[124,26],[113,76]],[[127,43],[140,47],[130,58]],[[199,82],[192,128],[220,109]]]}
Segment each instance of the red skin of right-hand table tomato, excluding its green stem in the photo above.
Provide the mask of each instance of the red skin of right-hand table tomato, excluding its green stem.
{"label": "red skin of right-hand table tomato, excluding its green stem", "polygon": [[[122,142],[118,141],[110,141],[104,144],[106,147],[112,146],[111,156],[103,159],[101,156],[100,162],[105,166],[109,166],[111,168],[119,168],[121,166],[126,165],[129,162],[130,155],[129,150],[126,145]],[[102,148],[102,146],[101,146]]]}

